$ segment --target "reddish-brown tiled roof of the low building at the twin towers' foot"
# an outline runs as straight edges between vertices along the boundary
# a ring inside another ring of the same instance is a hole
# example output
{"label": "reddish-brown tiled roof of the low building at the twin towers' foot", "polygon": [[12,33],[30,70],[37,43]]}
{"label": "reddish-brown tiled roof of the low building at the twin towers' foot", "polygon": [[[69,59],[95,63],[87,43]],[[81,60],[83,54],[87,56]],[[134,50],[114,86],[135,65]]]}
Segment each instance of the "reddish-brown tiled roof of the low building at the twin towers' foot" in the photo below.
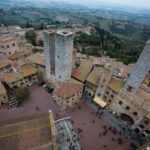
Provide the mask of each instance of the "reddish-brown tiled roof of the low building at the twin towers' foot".
{"label": "reddish-brown tiled roof of the low building at the twin towers' foot", "polygon": [[61,83],[59,87],[54,90],[54,93],[66,99],[76,94],[82,87],[83,85],[81,84]]}

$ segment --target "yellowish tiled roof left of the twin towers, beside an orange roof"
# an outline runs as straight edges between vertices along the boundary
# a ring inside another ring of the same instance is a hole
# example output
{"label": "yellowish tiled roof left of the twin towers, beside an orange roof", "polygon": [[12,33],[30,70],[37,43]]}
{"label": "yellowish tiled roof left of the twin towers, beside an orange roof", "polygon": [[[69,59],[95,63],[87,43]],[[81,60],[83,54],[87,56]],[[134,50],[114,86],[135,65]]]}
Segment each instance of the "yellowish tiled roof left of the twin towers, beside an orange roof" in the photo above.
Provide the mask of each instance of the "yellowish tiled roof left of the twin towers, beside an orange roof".
{"label": "yellowish tiled roof left of the twin towers, beside an orange roof", "polygon": [[20,69],[20,73],[23,77],[30,76],[32,74],[35,74],[37,72],[37,69],[32,66],[26,66]]}

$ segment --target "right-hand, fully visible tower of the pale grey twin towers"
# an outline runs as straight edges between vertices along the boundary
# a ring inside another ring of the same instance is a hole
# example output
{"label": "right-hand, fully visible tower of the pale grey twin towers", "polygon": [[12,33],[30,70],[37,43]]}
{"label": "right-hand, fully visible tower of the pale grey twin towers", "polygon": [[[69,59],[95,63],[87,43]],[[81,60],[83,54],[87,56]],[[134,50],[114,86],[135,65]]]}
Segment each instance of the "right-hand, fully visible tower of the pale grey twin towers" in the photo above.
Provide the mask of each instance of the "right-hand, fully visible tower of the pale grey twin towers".
{"label": "right-hand, fully visible tower of the pale grey twin towers", "polygon": [[74,35],[69,31],[58,31],[55,39],[55,79],[64,82],[72,72]]}

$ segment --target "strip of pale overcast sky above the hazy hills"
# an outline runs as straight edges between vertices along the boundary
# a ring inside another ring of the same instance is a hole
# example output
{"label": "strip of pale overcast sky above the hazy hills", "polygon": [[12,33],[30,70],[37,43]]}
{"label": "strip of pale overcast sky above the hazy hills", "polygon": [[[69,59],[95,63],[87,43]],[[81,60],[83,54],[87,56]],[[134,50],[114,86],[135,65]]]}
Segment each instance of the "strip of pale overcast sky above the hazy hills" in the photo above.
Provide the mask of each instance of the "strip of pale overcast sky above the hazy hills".
{"label": "strip of pale overcast sky above the hazy hills", "polygon": [[[85,4],[85,5],[97,5],[103,2],[111,3],[111,4],[121,4],[127,5],[132,7],[145,7],[150,8],[150,0],[62,0],[66,2],[73,2],[78,4]],[[57,0],[56,0],[57,2]]]}

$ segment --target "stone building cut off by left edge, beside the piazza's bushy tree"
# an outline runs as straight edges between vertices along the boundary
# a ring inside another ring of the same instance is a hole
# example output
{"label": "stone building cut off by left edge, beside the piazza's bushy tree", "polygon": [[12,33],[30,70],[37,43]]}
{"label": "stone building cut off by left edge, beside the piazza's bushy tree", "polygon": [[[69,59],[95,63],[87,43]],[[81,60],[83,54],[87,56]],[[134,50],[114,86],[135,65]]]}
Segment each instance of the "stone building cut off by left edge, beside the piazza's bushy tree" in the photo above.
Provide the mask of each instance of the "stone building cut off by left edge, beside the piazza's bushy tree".
{"label": "stone building cut off by left edge, beside the piazza's bushy tree", "polygon": [[0,106],[8,103],[8,96],[5,87],[0,82]]}

